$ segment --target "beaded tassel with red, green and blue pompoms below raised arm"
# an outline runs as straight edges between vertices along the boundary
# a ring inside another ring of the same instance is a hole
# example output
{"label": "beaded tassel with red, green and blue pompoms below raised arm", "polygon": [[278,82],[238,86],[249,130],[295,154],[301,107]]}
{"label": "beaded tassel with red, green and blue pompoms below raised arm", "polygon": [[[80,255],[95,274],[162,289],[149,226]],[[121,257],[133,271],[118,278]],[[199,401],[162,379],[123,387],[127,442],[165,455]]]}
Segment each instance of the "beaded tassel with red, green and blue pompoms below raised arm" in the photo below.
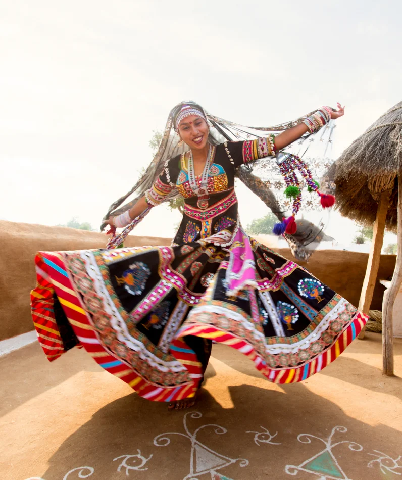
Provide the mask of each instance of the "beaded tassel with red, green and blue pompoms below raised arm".
{"label": "beaded tassel with red, green and blue pompoms below raised arm", "polygon": [[294,217],[297,215],[301,206],[301,189],[296,171],[299,171],[300,175],[306,180],[308,191],[315,191],[320,196],[323,208],[332,207],[335,203],[335,197],[333,195],[322,194],[318,190],[320,185],[313,179],[306,163],[297,155],[288,155],[285,160],[279,163],[279,169],[286,183],[284,195],[286,198],[293,199],[293,207],[292,215],[288,218],[283,218],[281,223],[276,223],[273,228],[273,233],[278,236],[284,233],[294,235],[297,231]]}

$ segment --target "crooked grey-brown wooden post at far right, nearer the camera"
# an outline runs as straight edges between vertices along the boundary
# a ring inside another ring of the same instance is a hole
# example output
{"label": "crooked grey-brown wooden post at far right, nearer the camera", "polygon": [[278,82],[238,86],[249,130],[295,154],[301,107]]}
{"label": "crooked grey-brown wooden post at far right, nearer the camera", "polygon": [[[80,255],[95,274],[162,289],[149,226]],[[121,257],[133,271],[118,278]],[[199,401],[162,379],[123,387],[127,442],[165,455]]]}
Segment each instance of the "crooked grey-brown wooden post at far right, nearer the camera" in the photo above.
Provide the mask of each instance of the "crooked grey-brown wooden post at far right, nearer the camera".
{"label": "crooked grey-brown wooden post at far right, nearer the camera", "polygon": [[402,174],[398,175],[398,246],[395,270],[382,302],[382,372],[393,375],[393,304],[402,283]]}

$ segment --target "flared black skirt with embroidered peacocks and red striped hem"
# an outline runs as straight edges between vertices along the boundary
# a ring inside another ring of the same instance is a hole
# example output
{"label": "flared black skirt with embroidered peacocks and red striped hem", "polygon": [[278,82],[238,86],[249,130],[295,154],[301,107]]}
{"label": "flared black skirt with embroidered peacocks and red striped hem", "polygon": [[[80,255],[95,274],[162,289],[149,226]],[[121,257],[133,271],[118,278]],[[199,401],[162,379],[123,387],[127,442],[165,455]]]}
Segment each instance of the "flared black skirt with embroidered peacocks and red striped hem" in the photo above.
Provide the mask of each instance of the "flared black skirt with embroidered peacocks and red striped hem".
{"label": "flared black skirt with embroidered peacocks and red striped hem", "polygon": [[141,397],[199,388],[211,341],[270,381],[304,380],[334,361],[367,318],[305,268],[239,229],[231,246],[39,252],[31,293],[50,361],[83,347]]}

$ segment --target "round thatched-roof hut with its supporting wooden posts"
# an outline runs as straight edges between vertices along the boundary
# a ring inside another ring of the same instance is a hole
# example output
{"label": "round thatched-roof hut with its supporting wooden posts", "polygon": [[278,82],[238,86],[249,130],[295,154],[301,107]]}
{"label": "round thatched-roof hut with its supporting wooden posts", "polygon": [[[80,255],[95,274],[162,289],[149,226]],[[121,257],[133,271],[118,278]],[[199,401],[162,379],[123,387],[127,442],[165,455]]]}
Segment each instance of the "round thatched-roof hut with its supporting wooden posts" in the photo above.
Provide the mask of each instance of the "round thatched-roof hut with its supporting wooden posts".
{"label": "round thatched-roof hut with its supporting wooden posts", "polygon": [[[393,374],[392,307],[402,281],[402,102],[385,112],[342,153],[326,177],[336,184],[336,208],[360,223],[374,224],[359,309],[368,313],[385,228],[398,232],[398,256],[384,294],[383,371]],[[362,336],[364,338],[364,331]]]}

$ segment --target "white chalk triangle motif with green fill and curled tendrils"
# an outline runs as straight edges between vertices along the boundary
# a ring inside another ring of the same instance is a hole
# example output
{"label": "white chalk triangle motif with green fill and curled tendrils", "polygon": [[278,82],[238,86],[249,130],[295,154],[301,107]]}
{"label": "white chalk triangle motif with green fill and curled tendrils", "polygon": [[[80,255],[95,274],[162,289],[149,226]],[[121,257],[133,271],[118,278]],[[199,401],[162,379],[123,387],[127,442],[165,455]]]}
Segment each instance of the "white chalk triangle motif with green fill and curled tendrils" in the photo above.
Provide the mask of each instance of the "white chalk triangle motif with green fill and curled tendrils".
{"label": "white chalk triangle motif with green fill and curled tendrils", "polygon": [[300,434],[297,440],[300,443],[311,443],[311,439],[316,439],[325,445],[323,450],[320,450],[316,455],[308,458],[300,465],[286,465],[285,472],[288,475],[297,475],[298,472],[307,472],[319,477],[319,480],[351,480],[346,473],[342,470],[338,460],[332,452],[332,449],[341,444],[348,445],[349,450],[354,452],[361,452],[363,450],[362,445],[356,442],[350,442],[348,440],[342,440],[341,442],[332,443],[332,437],[336,432],[345,433],[347,428],[344,426],[335,426],[332,428],[331,434],[328,440],[321,439],[315,435]]}

